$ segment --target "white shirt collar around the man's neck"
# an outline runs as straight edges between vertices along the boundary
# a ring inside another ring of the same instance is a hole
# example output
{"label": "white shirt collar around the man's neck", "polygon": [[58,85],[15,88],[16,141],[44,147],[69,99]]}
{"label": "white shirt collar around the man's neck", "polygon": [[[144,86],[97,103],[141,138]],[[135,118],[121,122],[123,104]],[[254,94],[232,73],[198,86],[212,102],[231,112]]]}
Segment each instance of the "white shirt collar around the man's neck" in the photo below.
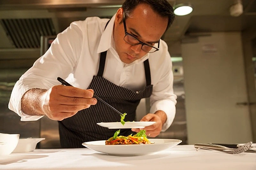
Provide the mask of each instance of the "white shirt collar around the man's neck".
{"label": "white shirt collar around the man's neck", "polygon": [[[99,43],[99,46],[98,46],[98,49],[97,49],[97,53],[107,51],[109,48],[112,48],[116,53],[115,41],[114,41],[114,37],[113,37],[113,28],[114,28],[115,18],[116,18],[116,14],[109,20],[109,23],[108,23],[106,29],[103,31],[103,33],[100,37],[100,43]],[[105,27],[105,25],[104,25],[104,27]],[[116,53],[116,55],[117,55],[118,59],[120,60],[117,53]],[[133,61],[130,64],[125,64],[124,63],[124,67],[130,66],[132,64],[142,63],[145,60],[147,60],[148,58],[149,58],[149,53],[147,53],[146,55],[144,55],[140,59]]]}

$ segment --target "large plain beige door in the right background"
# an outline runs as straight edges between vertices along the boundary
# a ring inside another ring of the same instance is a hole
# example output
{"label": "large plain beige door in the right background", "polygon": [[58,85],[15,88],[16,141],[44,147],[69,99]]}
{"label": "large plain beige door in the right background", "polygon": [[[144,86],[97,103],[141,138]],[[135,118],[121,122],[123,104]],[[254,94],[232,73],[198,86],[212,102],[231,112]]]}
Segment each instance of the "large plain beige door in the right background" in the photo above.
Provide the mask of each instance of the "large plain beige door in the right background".
{"label": "large plain beige door in the right background", "polygon": [[241,33],[188,39],[181,45],[188,144],[252,141],[249,107],[241,104],[248,101]]}

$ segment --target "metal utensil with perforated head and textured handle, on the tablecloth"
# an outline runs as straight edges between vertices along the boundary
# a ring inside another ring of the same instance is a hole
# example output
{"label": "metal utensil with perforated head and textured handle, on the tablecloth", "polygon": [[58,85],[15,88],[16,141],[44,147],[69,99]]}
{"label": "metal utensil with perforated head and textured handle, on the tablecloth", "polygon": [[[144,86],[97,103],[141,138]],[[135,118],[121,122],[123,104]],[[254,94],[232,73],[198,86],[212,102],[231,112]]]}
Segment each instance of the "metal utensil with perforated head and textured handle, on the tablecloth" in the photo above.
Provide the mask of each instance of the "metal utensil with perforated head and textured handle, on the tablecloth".
{"label": "metal utensil with perforated head and textured handle, on the tablecloth", "polygon": [[196,143],[194,147],[198,151],[199,149],[206,149],[211,151],[219,151],[224,153],[230,153],[230,154],[238,154],[242,152],[246,152],[250,149],[252,145],[252,142],[248,142],[242,146],[239,146],[238,148],[229,148],[222,145],[215,145],[215,144],[203,144],[203,143]]}

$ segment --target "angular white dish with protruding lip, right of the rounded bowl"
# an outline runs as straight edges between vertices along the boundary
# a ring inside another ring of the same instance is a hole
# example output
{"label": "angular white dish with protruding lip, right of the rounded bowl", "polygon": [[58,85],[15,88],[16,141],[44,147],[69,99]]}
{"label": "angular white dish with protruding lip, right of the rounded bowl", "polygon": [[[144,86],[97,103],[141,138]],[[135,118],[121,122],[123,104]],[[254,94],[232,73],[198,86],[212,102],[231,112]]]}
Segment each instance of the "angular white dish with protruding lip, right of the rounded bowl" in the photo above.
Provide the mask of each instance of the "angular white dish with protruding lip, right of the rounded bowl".
{"label": "angular white dish with protruding lip, right of the rounded bowl", "polygon": [[36,144],[45,138],[20,138],[18,145],[12,153],[32,152],[36,149]]}

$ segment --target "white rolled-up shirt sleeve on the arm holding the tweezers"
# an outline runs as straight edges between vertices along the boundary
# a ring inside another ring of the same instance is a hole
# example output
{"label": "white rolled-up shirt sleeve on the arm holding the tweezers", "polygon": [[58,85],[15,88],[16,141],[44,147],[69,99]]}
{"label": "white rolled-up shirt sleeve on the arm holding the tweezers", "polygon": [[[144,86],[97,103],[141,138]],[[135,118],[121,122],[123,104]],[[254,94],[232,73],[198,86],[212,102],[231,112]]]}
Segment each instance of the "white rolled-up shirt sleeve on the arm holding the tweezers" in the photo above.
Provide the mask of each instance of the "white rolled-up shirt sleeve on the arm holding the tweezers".
{"label": "white rolled-up shirt sleeve on the arm holding the tweezers", "polygon": [[66,78],[75,67],[83,41],[82,32],[77,24],[79,22],[71,23],[66,30],[59,33],[47,52],[38,58],[14,85],[8,107],[21,117],[21,121],[35,121],[43,117],[23,113],[22,96],[29,89],[50,89],[60,84],[56,78]]}

